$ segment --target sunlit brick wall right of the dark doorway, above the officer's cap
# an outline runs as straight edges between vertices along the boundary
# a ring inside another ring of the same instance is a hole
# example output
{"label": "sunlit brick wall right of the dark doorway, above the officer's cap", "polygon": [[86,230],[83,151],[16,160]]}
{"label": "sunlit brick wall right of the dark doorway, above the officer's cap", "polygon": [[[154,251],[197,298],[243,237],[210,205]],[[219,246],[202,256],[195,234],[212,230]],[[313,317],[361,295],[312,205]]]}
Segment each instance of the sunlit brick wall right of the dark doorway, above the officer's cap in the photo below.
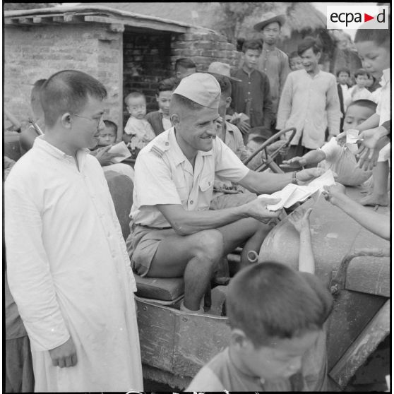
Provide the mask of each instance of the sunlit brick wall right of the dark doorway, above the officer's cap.
{"label": "sunlit brick wall right of the dark doorway, above the officer's cap", "polygon": [[191,30],[172,37],[172,64],[180,57],[190,57],[196,63],[197,71],[207,71],[213,61],[221,61],[237,68],[240,56],[241,53],[237,52],[234,44],[230,44],[224,35],[213,30]]}

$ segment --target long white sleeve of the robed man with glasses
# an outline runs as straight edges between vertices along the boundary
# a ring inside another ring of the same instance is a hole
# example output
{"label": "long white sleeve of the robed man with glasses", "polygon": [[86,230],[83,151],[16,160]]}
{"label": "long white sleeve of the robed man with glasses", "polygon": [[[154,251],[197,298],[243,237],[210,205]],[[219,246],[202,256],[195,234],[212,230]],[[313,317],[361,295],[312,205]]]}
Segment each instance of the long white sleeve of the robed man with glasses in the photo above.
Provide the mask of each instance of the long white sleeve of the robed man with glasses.
{"label": "long white sleeve of the robed man with glasses", "polygon": [[8,285],[32,347],[51,350],[64,344],[70,335],[42,242],[40,210],[23,188],[23,179],[13,175],[4,189]]}

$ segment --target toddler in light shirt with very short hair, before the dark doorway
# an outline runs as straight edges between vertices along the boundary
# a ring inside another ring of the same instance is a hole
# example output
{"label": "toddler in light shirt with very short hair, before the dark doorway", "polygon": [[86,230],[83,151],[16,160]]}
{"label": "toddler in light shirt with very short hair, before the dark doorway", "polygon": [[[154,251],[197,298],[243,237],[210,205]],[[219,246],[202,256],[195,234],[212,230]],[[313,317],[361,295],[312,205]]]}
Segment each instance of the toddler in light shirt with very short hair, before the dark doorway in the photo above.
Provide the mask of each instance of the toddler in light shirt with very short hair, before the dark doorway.
{"label": "toddler in light shirt with very short hair, before the dark doorway", "polygon": [[145,119],[146,100],[141,92],[131,92],[124,102],[130,117],[124,128],[124,142],[129,143],[129,148],[135,154],[155,138],[155,132],[150,123]]}

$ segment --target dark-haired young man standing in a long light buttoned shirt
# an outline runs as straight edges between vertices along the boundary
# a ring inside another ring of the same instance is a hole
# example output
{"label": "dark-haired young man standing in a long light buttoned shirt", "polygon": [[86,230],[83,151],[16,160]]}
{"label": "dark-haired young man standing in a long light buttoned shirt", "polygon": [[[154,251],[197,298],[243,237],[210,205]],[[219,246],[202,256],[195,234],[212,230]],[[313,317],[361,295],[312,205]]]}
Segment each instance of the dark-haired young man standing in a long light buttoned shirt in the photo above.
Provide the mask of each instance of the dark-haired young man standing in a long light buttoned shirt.
{"label": "dark-haired young man standing in a long light buttoned shirt", "polygon": [[328,126],[329,138],[340,128],[340,103],[335,76],[321,71],[318,61],[321,46],[306,37],[298,47],[305,69],[287,76],[277,111],[277,130],[297,129],[290,143],[287,160],[303,156],[324,143]]}

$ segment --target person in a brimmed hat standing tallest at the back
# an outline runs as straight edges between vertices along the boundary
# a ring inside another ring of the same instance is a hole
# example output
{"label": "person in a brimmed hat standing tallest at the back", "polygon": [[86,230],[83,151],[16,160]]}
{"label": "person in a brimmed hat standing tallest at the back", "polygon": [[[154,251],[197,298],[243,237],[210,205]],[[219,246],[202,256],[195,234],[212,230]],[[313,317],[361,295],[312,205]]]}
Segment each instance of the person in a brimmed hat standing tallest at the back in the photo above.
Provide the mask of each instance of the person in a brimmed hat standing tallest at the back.
{"label": "person in a brimmed hat standing tallest at the back", "polygon": [[[289,59],[285,52],[276,47],[280,37],[280,30],[285,24],[285,15],[275,15],[268,12],[262,16],[261,22],[253,26],[254,30],[261,32],[263,38],[263,51],[258,58],[257,69],[265,73],[270,80],[270,95],[273,102],[273,122],[276,119],[277,106],[289,69]],[[275,124],[273,124],[275,129]]]}

